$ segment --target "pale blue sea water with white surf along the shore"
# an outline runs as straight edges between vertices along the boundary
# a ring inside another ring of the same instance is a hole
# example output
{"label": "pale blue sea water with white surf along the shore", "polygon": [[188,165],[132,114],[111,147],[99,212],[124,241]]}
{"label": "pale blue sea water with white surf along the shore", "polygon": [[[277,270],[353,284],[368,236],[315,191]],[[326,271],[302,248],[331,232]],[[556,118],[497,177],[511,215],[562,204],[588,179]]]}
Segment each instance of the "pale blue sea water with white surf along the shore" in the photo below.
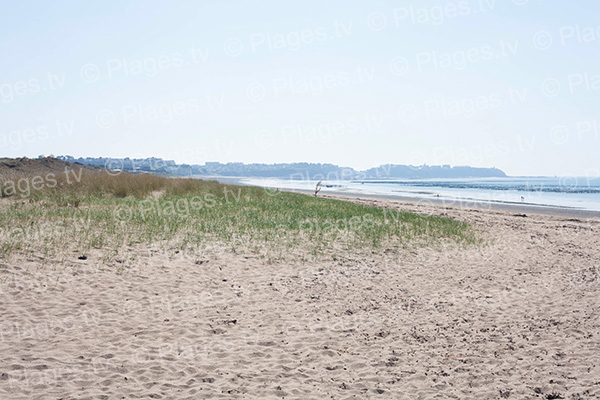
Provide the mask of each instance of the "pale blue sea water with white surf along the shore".
{"label": "pale blue sea water with white surf along the shore", "polygon": [[[317,180],[244,178],[241,183],[269,189],[314,190]],[[366,194],[386,197],[436,199],[551,206],[600,211],[600,178],[514,177],[425,180],[323,181],[321,193]]]}

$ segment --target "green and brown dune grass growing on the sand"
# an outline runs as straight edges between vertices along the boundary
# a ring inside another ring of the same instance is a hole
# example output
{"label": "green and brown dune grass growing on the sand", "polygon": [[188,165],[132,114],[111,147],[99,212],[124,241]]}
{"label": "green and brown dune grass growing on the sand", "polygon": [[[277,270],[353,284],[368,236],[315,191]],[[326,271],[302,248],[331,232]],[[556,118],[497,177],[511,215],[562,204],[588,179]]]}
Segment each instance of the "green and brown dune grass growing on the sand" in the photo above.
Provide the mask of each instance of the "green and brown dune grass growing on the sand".
{"label": "green and brown dune grass growing on the sand", "polygon": [[197,249],[220,243],[233,251],[286,258],[340,247],[478,242],[470,225],[447,218],[254,187],[106,172],[57,175],[49,182],[27,196],[3,190],[11,198],[0,207],[0,255],[29,250],[51,256],[67,248],[116,254],[137,244]]}

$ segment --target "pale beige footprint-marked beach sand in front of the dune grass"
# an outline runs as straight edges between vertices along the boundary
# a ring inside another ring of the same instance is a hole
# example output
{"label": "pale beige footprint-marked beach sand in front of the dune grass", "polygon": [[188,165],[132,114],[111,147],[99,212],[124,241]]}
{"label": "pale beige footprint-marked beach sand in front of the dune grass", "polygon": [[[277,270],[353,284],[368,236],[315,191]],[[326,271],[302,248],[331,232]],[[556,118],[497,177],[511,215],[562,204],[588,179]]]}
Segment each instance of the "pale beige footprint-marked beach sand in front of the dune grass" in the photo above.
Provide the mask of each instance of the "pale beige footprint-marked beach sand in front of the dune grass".
{"label": "pale beige footprint-marked beach sand in front of the dune grass", "polygon": [[600,222],[352,201],[482,246],[0,264],[1,399],[600,397]]}

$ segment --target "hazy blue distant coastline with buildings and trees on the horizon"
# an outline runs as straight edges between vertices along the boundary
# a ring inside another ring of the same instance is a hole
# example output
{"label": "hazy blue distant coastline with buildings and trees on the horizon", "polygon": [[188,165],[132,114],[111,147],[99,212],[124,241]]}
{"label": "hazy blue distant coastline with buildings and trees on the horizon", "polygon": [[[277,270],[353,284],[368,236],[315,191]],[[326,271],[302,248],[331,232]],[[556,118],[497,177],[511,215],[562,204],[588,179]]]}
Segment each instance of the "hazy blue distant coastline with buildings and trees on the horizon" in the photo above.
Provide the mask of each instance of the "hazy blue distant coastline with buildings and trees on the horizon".
{"label": "hazy blue distant coastline with buildings and trees on the horizon", "polygon": [[[42,157],[42,156],[40,156]],[[244,164],[206,162],[204,165],[177,164],[162,158],[105,158],[58,156],[62,161],[92,167],[138,173],[176,176],[231,176],[279,179],[428,179],[428,178],[487,178],[505,177],[498,168],[477,168],[450,165],[396,165],[384,164],[365,171],[334,164],[285,163]]]}

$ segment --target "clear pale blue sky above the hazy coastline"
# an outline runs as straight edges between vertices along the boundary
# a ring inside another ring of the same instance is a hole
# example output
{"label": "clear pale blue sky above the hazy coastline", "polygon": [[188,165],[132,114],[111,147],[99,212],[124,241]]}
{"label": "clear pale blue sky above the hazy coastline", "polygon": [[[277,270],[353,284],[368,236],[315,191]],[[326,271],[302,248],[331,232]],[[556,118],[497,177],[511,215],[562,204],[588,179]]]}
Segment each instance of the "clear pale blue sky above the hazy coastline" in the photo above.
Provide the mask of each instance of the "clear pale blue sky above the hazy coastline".
{"label": "clear pale blue sky above the hazy coastline", "polygon": [[600,176],[600,3],[0,0],[0,156]]}

